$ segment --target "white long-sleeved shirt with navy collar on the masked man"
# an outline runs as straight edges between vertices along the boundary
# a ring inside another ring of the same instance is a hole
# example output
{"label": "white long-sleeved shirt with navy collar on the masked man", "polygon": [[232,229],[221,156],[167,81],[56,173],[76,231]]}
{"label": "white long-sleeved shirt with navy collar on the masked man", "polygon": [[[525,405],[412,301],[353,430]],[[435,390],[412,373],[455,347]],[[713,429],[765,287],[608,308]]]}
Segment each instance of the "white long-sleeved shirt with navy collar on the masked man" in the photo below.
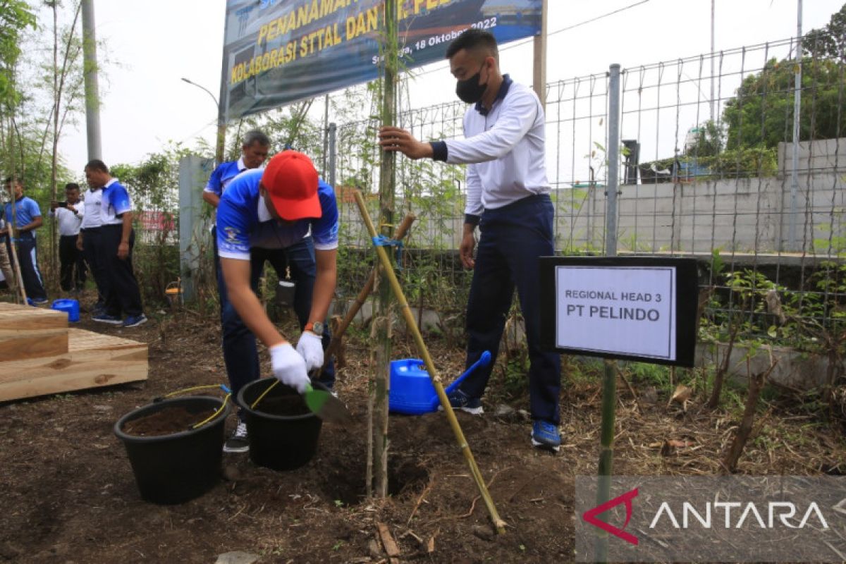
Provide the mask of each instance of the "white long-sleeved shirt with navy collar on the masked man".
{"label": "white long-sleeved shirt with navy collar on the masked man", "polygon": [[467,167],[465,213],[481,216],[533,194],[548,194],[544,114],[534,90],[512,83],[486,116],[471,106],[464,137],[446,141],[447,162]]}

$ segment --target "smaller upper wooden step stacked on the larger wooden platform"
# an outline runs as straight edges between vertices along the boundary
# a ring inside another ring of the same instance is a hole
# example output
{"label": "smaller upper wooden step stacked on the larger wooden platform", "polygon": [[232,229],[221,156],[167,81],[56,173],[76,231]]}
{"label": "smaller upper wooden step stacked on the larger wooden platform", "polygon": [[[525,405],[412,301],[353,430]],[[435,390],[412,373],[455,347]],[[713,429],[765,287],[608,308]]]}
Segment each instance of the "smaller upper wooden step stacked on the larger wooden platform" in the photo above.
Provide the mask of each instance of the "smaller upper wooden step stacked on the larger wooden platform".
{"label": "smaller upper wooden step stacked on the larger wooden platform", "polygon": [[67,313],[0,302],[0,362],[67,352]]}

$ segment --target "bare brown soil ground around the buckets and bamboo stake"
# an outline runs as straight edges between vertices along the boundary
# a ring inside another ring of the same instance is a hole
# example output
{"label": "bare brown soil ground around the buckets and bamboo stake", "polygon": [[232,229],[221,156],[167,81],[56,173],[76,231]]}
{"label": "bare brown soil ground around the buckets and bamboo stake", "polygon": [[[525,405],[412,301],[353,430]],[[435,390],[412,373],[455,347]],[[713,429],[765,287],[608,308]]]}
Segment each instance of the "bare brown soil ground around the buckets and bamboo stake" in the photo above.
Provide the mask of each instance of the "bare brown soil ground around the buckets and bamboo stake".
{"label": "bare brown soil ground around the buckets and bamboo stake", "polygon": [[[525,394],[503,392],[502,367],[488,413],[459,413],[508,523],[506,534],[495,536],[442,413],[392,416],[391,495],[365,499],[370,353],[360,336],[350,337],[338,379],[353,422],[325,424],[316,457],[304,468],[276,472],[246,454],[225,455],[222,480],[206,495],[171,507],[142,501],[113,424],[153,397],[225,381],[217,315],[167,315],[126,330],[89,320],[80,327],[148,342],[150,379],[0,404],[0,561],[189,564],[244,551],[260,562],[387,562],[376,541],[379,523],[396,540],[397,561],[574,560],[574,477],[596,473],[601,390],[571,360],[558,455],[530,446],[530,423],[519,411],[493,414],[500,399],[517,410],[528,405]],[[430,346],[443,375],[458,375],[463,351],[434,338]],[[409,340],[397,335],[393,358],[415,356]],[[737,410],[707,412],[695,395],[683,411],[667,407],[670,390],[634,386],[640,405],[625,386],[618,388],[615,474],[720,472]],[[843,471],[842,429],[793,401],[773,399],[761,411],[740,461],[743,472]],[[230,417],[228,429],[233,424]]]}

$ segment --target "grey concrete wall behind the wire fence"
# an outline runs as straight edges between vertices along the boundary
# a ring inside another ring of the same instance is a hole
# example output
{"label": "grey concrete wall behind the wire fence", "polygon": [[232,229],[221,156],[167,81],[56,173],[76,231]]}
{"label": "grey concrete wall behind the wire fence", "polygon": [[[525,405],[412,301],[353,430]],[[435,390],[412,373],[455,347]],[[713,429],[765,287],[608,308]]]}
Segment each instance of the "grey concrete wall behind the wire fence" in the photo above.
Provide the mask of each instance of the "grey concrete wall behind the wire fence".
{"label": "grey concrete wall behind the wire fence", "polygon": [[[779,145],[780,171],[789,172],[791,146]],[[793,250],[836,255],[846,244],[846,139],[802,143],[800,156],[797,214],[793,217],[789,173],[772,178],[621,186],[618,250],[710,253],[720,248],[777,253],[788,250],[788,229],[794,221],[797,248]],[[557,210],[556,248],[602,251],[605,188],[558,189],[552,198]],[[422,248],[458,249],[463,202],[432,203],[415,205],[420,219],[413,243]],[[401,206],[398,201],[398,208]],[[346,243],[369,244],[354,205],[342,205],[342,222]],[[832,249],[827,244],[830,237]],[[815,239],[819,239],[816,250]]]}

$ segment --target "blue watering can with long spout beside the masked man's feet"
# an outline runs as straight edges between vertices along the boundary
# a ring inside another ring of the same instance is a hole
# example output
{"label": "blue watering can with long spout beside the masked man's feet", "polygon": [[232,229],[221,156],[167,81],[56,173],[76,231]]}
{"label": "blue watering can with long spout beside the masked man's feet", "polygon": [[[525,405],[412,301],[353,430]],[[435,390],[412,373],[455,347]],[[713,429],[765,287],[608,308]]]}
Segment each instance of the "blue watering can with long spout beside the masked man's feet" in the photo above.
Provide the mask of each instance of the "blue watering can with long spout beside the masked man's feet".
{"label": "blue watering can with long spout beside the masked man's feet", "polygon": [[[470,372],[479,366],[486,366],[490,362],[491,353],[485,351],[481,354],[481,358],[447,386],[444,392],[449,394],[459,386]],[[426,364],[423,364],[420,359],[393,360],[391,362],[390,386],[387,407],[393,413],[422,415],[437,409],[439,401],[435,386],[431,383]]]}

